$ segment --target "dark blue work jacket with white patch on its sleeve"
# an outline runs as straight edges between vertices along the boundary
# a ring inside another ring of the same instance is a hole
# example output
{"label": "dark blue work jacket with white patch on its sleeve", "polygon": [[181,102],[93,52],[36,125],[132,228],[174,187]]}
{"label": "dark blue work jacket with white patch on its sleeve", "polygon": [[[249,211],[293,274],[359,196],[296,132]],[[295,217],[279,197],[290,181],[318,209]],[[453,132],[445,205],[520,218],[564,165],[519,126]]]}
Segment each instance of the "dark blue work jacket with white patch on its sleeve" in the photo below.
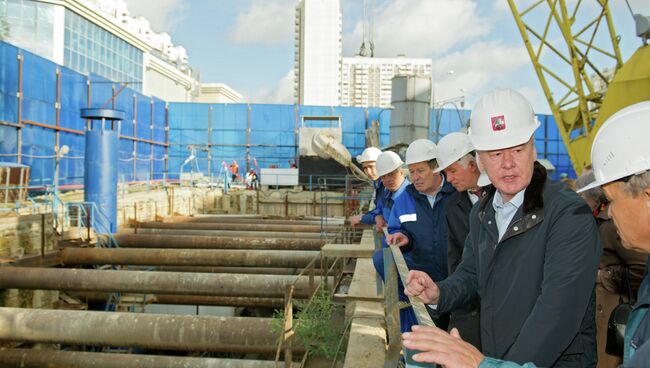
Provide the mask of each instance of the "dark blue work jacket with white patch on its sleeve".
{"label": "dark blue work jacket with white patch on its sleeve", "polygon": [[424,271],[433,281],[447,277],[445,206],[455,192],[454,187],[445,180],[432,208],[427,196],[411,184],[406,188],[407,195],[395,201],[388,221],[389,233],[401,232],[409,238],[408,245],[402,247],[409,269]]}

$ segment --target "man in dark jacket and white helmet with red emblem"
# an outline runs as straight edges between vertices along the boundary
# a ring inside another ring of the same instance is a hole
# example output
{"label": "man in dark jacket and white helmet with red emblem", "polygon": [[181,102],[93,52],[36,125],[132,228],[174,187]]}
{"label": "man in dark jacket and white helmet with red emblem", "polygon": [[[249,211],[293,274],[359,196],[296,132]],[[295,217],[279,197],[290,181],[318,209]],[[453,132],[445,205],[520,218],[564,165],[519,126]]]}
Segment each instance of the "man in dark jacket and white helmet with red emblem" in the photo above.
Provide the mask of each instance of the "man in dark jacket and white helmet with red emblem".
{"label": "man in dark jacket and white helmet with red emblem", "polygon": [[592,367],[600,238],[584,201],[535,161],[538,126],[518,92],[497,90],[477,103],[469,136],[494,187],[472,209],[456,272],[436,284],[411,271],[406,292],[441,311],[480,298],[485,355]]}

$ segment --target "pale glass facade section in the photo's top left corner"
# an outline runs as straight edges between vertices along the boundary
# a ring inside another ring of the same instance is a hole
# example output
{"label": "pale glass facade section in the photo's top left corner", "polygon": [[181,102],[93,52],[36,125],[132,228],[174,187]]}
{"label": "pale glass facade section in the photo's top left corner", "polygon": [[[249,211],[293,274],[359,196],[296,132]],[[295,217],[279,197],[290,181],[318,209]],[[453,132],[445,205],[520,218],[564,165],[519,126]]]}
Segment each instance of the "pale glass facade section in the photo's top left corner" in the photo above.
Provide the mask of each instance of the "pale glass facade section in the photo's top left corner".
{"label": "pale glass facade section in the photo's top left corner", "polygon": [[54,5],[33,0],[0,0],[0,41],[51,59]]}

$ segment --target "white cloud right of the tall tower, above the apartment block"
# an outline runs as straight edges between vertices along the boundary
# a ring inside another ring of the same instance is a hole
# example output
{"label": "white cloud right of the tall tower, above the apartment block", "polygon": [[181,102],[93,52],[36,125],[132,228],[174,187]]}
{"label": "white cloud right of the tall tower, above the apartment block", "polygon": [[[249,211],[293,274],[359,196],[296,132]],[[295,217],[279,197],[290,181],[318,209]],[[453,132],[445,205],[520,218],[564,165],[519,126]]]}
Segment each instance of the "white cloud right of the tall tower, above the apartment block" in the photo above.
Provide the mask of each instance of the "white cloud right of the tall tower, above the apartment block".
{"label": "white cloud right of the tall tower, above the apartment block", "polygon": [[[377,56],[424,57],[488,33],[490,24],[474,0],[394,0],[376,9],[374,28]],[[344,36],[345,54],[358,51],[362,34],[359,22]]]}

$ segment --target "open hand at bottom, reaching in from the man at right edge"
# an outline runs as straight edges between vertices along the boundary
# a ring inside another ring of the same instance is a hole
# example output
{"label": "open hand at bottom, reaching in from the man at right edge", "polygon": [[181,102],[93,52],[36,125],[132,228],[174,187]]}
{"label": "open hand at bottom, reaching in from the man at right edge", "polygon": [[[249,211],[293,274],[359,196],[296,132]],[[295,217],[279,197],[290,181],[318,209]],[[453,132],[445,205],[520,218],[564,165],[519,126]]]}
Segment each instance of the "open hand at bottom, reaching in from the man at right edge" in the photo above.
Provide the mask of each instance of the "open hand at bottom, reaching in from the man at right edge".
{"label": "open hand at bottom, reaching in from the man at right edge", "polygon": [[416,362],[435,363],[445,368],[477,368],[483,354],[463,341],[457,329],[451,334],[437,328],[413,326],[413,332],[402,335],[404,346],[420,353],[413,355]]}

